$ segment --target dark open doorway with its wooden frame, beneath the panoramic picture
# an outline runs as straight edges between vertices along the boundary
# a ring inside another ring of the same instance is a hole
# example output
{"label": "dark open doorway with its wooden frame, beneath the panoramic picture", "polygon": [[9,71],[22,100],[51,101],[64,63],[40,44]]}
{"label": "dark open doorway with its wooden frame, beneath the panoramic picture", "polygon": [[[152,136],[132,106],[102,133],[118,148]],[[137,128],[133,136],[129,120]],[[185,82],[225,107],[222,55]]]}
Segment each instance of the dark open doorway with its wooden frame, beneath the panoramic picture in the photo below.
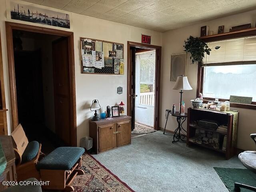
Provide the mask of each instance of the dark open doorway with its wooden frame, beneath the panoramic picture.
{"label": "dark open doorway with its wooden frame, beneath the panoramic picture", "polygon": [[73,33],[6,22],[13,130],[42,151],[76,146]]}

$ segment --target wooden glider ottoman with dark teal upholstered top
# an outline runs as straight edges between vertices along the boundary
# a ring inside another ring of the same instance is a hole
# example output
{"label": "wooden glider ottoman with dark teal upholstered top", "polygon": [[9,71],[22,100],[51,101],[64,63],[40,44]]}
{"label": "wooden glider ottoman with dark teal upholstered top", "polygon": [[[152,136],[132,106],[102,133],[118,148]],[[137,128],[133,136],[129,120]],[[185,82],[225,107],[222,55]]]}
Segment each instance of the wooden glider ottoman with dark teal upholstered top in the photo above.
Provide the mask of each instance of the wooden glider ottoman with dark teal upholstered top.
{"label": "wooden glider ottoman with dark teal upholstered top", "polygon": [[76,175],[84,174],[80,169],[84,148],[59,147],[48,154],[36,168],[40,171],[42,181],[49,181],[44,189],[74,191],[71,186]]}

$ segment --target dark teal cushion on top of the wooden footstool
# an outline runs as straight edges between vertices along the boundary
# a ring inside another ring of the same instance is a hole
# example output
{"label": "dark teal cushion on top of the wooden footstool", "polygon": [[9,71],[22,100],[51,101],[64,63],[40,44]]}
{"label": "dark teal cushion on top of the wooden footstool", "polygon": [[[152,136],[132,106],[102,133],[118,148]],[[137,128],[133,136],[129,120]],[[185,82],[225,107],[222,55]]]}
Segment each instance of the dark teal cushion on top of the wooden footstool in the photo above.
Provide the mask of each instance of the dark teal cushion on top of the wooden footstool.
{"label": "dark teal cushion on top of the wooden footstool", "polygon": [[82,154],[84,154],[82,147],[58,147],[43,158],[36,168],[38,170],[70,170]]}

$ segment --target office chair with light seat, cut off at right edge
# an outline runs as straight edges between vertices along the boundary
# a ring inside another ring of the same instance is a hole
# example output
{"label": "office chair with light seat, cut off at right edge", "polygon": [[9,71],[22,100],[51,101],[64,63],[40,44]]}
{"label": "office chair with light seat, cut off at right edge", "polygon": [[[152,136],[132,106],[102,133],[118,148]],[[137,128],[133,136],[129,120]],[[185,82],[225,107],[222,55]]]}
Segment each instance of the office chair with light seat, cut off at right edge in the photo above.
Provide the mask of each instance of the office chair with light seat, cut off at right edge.
{"label": "office chair with light seat, cut off at right edge", "polygon": [[[256,144],[256,134],[250,134],[250,136]],[[246,168],[256,173],[256,151],[242,152],[238,155],[238,158]],[[254,186],[235,182],[235,191],[240,192],[240,188],[245,188],[256,192],[256,187]]]}

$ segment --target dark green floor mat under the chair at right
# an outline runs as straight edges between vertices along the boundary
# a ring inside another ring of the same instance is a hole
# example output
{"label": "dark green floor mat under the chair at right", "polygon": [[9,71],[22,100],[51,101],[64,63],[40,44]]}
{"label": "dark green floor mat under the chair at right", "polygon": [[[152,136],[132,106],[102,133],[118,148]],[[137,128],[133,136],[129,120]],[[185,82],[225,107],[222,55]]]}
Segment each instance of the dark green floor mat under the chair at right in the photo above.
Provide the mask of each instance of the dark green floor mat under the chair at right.
{"label": "dark green floor mat under the chair at right", "polygon": [[[219,168],[214,167],[220,176],[222,182],[226,185],[230,192],[234,192],[234,182],[256,186],[256,174],[248,169]],[[252,192],[241,188],[241,192]]]}

